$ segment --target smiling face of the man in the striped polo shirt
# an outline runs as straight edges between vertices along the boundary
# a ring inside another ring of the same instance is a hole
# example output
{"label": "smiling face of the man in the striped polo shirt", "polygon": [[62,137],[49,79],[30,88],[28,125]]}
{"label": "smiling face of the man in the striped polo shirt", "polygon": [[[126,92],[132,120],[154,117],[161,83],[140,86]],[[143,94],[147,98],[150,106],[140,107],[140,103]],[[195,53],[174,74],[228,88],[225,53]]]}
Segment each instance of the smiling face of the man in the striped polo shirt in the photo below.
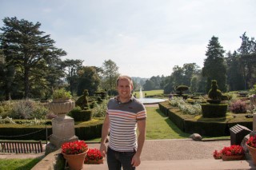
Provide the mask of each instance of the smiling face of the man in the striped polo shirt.
{"label": "smiling face of the man in the striped polo shirt", "polygon": [[130,99],[130,93],[133,89],[133,85],[130,84],[130,81],[126,79],[121,79],[118,81],[118,94],[122,99]]}

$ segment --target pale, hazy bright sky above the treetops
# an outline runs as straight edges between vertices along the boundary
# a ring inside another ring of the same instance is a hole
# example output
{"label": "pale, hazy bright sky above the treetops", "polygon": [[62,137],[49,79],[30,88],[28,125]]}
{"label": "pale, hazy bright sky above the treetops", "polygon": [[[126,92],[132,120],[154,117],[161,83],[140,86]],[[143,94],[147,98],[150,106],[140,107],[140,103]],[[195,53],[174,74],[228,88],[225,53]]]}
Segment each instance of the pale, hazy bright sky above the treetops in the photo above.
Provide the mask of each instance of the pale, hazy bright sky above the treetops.
{"label": "pale, hazy bright sky above the treetops", "polygon": [[210,39],[226,52],[240,36],[256,36],[255,0],[0,0],[2,19],[40,22],[62,60],[101,67],[111,60],[121,74],[170,76],[175,65],[201,69]]}

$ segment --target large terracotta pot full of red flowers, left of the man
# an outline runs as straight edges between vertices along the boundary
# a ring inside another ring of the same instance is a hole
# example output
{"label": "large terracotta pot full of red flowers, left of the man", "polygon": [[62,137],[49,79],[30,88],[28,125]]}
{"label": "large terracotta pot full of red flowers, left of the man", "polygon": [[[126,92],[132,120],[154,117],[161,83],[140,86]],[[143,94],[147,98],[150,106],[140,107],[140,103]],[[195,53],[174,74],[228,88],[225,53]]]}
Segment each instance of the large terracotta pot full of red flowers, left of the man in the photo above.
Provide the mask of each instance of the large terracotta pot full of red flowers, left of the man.
{"label": "large terracotta pot full of red flowers, left of the man", "polygon": [[62,144],[62,155],[69,164],[70,169],[82,169],[87,152],[88,146],[83,140],[75,140]]}

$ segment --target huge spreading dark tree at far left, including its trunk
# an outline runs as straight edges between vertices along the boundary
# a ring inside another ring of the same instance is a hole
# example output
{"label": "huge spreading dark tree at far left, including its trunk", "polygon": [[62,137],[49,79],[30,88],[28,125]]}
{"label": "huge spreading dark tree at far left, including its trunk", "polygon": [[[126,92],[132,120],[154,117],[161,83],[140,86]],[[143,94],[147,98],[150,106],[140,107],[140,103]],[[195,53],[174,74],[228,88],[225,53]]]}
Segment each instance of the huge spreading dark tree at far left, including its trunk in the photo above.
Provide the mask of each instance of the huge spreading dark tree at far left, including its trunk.
{"label": "huge spreading dark tree at far left, including its trunk", "polygon": [[[28,22],[24,19],[4,18],[0,30],[1,49],[6,62],[20,71],[24,86],[24,97],[30,95],[31,77],[45,76],[48,64],[59,61],[66,55],[62,49],[54,47],[54,40],[39,28],[41,23]],[[35,74],[37,73],[37,74]],[[34,79],[36,81],[36,79]]]}

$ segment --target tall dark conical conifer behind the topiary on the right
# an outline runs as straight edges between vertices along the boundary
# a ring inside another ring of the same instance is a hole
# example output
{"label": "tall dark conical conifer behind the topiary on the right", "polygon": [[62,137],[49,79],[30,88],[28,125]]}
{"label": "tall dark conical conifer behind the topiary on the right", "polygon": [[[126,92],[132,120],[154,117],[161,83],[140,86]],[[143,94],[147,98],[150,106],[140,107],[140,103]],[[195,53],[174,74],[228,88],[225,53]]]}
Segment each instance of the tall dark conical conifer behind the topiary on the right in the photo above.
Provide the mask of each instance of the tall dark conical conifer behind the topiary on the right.
{"label": "tall dark conical conifer behind the topiary on the right", "polygon": [[206,92],[210,90],[211,80],[218,81],[218,89],[226,92],[226,65],[222,45],[217,37],[212,37],[207,45],[206,59],[202,68],[202,76],[207,77]]}

